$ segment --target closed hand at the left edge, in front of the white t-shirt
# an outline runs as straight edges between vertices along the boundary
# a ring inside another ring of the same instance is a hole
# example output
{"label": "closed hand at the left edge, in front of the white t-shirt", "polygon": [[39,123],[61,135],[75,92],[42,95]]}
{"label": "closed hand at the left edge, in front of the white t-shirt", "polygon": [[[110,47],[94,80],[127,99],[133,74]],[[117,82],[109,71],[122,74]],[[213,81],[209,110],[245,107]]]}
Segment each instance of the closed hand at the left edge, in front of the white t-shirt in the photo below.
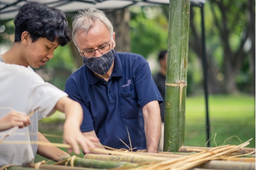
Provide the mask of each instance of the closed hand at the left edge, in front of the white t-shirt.
{"label": "closed hand at the left edge, in front of the white t-shirt", "polygon": [[23,113],[15,110],[10,111],[7,115],[0,118],[0,131],[5,131],[15,126],[23,128],[30,125],[30,118]]}

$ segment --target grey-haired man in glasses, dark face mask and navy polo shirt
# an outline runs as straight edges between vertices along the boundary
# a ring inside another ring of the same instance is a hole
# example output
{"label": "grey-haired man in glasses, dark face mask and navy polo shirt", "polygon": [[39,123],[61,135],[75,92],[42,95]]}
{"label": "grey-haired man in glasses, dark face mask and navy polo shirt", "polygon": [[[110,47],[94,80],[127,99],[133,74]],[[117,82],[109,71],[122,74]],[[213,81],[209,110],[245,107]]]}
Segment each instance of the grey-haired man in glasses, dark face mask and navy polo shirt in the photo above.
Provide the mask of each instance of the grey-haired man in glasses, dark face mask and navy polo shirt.
{"label": "grey-haired man in glasses, dark face mask and navy polo shirt", "polygon": [[80,11],[72,25],[85,65],[70,76],[65,91],[82,105],[84,136],[97,136],[116,149],[157,152],[163,101],[146,60],[114,51],[113,26],[100,10]]}

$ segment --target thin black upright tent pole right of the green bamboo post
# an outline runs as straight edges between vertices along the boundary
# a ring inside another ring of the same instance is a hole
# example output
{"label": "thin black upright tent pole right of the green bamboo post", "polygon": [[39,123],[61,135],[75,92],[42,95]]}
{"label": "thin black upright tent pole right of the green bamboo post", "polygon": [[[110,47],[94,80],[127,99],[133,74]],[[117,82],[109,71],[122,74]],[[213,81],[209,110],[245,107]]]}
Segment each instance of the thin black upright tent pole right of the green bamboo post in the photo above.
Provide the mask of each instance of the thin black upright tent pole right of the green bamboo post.
{"label": "thin black upright tent pole right of the green bamboo post", "polygon": [[[206,141],[210,138],[210,123],[209,123],[209,111],[208,111],[208,87],[207,87],[207,59],[205,48],[205,28],[204,28],[204,5],[200,4],[201,8],[201,24],[202,24],[202,58],[203,58],[203,72],[204,72],[204,97],[205,97],[205,109],[206,109]],[[207,143],[207,147],[210,147],[210,141]]]}

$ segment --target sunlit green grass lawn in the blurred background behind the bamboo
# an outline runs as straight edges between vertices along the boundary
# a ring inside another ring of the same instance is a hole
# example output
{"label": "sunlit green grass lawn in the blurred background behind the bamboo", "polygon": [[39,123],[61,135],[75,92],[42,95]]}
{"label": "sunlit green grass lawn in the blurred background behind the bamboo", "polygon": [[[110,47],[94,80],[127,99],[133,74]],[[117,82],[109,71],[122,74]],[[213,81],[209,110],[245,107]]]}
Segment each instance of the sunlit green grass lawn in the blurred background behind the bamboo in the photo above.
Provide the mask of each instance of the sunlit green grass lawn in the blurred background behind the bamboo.
{"label": "sunlit green grass lawn in the blurred background behind the bamboo", "polygon": [[[61,113],[53,119],[44,118],[39,121],[39,132],[47,134],[62,134],[62,122],[56,122]],[[255,100],[249,95],[211,95],[209,98],[210,133],[217,133],[216,143],[221,145],[228,137],[236,135],[242,142],[253,138],[249,148],[255,148]],[[55,121],[52,121],[55,120]],[[210,136],[211,136],[210,135]],[[51,142],[61,143],[62,139],[47,137]],[[185,143],[187,146],[204,147],[205,132],[205,101],[203,96],[186,99]],[[231,138],[228,144],[240,144],[239,139]],[[215,147],[214,140],[210,146]],[[63,149],[67,152],[66,149]],[[72,154],[73,155],[73,154]],[[78,155],[82,157],[83,154]],[[46,160],[36,155],[35,162]],[[48,163],[54,163],[49,161]]]}

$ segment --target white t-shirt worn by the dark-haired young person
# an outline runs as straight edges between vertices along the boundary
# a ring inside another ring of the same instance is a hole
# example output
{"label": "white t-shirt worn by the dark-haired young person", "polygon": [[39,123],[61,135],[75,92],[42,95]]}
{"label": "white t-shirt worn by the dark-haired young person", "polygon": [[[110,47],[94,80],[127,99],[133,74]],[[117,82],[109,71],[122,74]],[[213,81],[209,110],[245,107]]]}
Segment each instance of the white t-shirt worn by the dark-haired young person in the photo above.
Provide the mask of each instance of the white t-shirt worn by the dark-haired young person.
{"label": "white t-shirt worn by the dark-haired young person", "polygon": [[[0,107],[10,107],[27,115],[38,110],[50,116],[55,111],[53,108],[56,103],[65,96],[68,94],[46,83],[34,71],[24,66],[0,62]],[[0,166],[32,162],[33,153],[32,156],[31,153],[27,155],[24,147],[31,148],[31,145],[0,144]],[[9,152],[10,148],[15,148],[12,149],[15,152]],[[19,157],[24,159],[20,161]]]}

